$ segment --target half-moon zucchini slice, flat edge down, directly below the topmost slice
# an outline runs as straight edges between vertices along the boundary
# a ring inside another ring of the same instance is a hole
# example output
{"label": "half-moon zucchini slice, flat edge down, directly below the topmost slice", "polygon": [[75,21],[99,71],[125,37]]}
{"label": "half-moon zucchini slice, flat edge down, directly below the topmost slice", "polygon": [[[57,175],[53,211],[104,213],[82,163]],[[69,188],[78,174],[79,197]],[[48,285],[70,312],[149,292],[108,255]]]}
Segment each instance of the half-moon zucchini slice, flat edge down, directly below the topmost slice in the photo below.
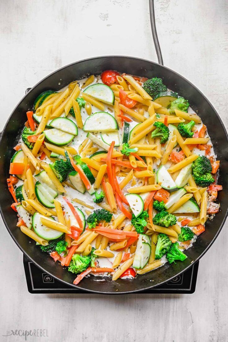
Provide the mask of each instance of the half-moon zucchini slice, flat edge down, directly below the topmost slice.
{"label": "half-moon zucchini slice, flat edge down, directly below the topmost slice", "polygon": [[85,132],[113,132],[119,129],[116,119],[106,111],[91,114],[84,123]]}

